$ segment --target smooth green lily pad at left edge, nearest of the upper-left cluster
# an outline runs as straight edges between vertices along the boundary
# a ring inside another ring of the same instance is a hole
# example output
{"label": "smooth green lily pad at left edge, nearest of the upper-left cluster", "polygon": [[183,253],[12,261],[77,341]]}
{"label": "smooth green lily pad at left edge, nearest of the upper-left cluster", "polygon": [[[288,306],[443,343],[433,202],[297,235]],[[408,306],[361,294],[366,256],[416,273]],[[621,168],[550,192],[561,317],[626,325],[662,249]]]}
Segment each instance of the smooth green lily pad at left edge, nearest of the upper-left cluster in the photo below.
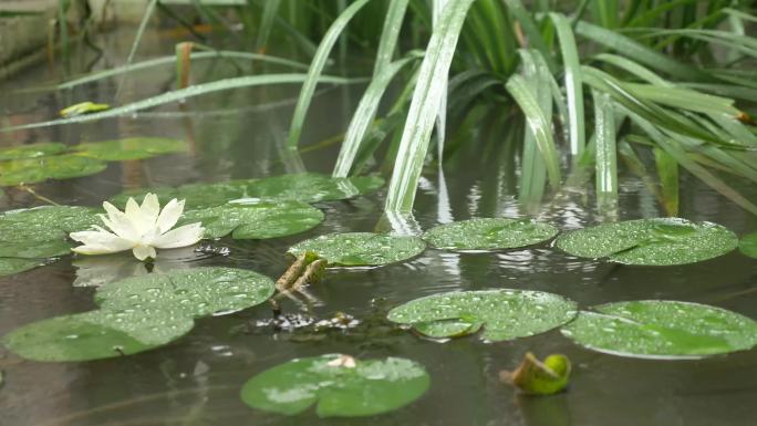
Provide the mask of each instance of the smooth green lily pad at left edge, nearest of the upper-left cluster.
{"label": "smooth green lily pad at left edge, nearest of the upper-left cluster", "polygon": [[53,155],[0,163],[0,185],[35,184],[48,179],[70,179],[103,172],[107,164],[79,155]]}

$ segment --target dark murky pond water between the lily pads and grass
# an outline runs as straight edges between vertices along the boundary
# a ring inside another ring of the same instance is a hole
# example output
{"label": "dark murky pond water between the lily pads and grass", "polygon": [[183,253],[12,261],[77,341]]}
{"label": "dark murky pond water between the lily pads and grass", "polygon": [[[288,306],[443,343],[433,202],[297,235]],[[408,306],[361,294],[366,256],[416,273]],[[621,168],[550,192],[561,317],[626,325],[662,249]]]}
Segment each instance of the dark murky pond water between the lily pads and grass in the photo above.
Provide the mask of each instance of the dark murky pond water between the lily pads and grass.
{"label": "dark murky pond water between the lily pads and grass", "polygon": [[[172,40],[149,35],[141,55],[170,52]],[[128,40],[128,39],[126,39]],[[113,52],[106,62],[125,55],[123,38],[110,37]],[[124,82],[121,101],[156,94],[174,84],[170,67],[145,72]],[[195,70],[198,81],[232,75],[224,64]],[[205,74],[207,73],[207,75]],[[65,94],[18,94],[48,79],[44,67],[32,70],[2,87],[2,124],[49,118],[65,104],[84,100],[111,101],[110,80]],[[125,136],[184,138],[194,153],[143,162],[111,163],[107,170],[86,178],[55,181],[38,191],[59,202],[96,205],[124,188],[216,181],[297,172],[283,158],[283,139],[298,87],[236,91],[196,98],[185,112],[175,107],[92,124],[0,134],[3,146],[32,142],[79,143]],[[304,135],[302,164],[329,173],[338,145],[313,148],[346,126],[360,87],[323,91],[313,105]],[[468,144],[445,168],[424,174],[415,218],[422,229],[439,222],[481,216],[522,216],[515,199],[517,169],[507,149],[497,144]],[[505,139],[504,136],[500,137]],[[474,146],[475,145],[475,146]],[[480,148],[485,146],[485,148]],[[486,149],[486,150],[485,150]],[[739,185],[734,183],[734,185]],[[743,189],[749,190],[742,185]],[[738,233],[753,231],[753,216],[713,190],[686,178],[681,216],[711,220]],[[562,229],[597,224],[594,201],[571,193],[539,209],[539,217]],[[754,195],[754,190],[751,191]],[[191,251],[164,252],[158,267],[235,266],[270,277],[287,267],[286,249],[305,238],[332,231],[376,228],[384,193],[323,202],[326,220],[303,235],[266,241],[221,240],[227,257]],[[10,190],[3,209],[39,204],[27,193]],[[661,216],[654,197],[640,180],[624,177],[620,219]],[[191,258],[191,262],[182,259]],[[174,260],[172,260],[174,259]],[[178,260],[176,260],[178,259]],[[0,279],[0,334],[29,322],[93,308],[93,290],[80,287],[87,277],[128,276],[141,264],[124,254],[73,266],[71,259]],[[72,285],[76,284],[76,285]],[[685,267],[616,267],[571,258],[548,245],[526,250],[458,254],[426,250],[412,261],[370,270],[332,270],[311,292],[322,301],[313,314],[329,318],[344,312],[364,321],[349,332],[325,337],[256,328],[271,318],[260,305],[226,316],[209,318],[179,341],[152,352],[86,363],[37,363],[0,349],[0,425],[528,425],[528,426],[698,426],[754,425],[757,398],[757,351],[701,361],[633,360],[590,352],[551,331],[528,339],[484,344],[475,337],[446,344],[391,332],[380,318],[387,308],[421,295],[450,290],[487,288],[537,289],[559,293],[581,305],[637,300],[674,299],[714,304],[757,318],[757,262],[738,252]],[[284,312],[298,312],[284,303]],[[574,364],[569,392],[545,398],[522,397],[498,382],[500,370],[515,367],[527,351],[540,356],[567,354]],[[403,356],[426,366],[431,391],[395,413],[366,419],[321,420],[312,412],[283,417],[252,411],[239,399],[250,376],[298,356],[349,353],[359,357]]]}

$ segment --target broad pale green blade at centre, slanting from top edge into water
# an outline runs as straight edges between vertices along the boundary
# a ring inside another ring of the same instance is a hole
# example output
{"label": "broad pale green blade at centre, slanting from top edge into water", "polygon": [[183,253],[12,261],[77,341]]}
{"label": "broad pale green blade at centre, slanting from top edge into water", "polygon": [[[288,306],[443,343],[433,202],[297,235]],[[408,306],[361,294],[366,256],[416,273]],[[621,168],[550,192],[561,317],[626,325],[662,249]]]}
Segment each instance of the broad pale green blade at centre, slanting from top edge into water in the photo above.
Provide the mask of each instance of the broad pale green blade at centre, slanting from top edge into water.
{"label": "broad pale green blade at centre, slanting from top edge into water", "polygon": [[446,79],[439,76],[449,72],[463,22],[473,2],[458,0],[449,3],[428,42],[392,172],[386,195],[387,211],[409,214],[413,210],[436,114],[447,89]]}

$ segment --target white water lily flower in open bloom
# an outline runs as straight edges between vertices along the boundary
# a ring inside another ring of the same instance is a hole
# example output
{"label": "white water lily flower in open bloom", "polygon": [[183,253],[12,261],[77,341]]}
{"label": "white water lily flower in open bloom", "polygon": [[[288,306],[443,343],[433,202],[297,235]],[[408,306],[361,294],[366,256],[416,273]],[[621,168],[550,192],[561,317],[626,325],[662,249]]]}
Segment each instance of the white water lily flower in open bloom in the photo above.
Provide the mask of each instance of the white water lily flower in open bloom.
{"label": "white water lily flower in open bloom", "polygon": [[103,224],[111,230],[93,226],[92,230],[72,232],[71,238],[84,246],[72,250],[81,254],[108,254],[132,250],[139,260],[157,256],[155,249],[175,249],[191,246],[203,238],[200,222],[185,225],[170,230],[184,211],[184,200],[176,198],[160,210],[155,194],[147,194],[139,206],[134,198],[126,201],[126,210],[121,211],[112,204],[103,202],[106,215],[100,215]]}

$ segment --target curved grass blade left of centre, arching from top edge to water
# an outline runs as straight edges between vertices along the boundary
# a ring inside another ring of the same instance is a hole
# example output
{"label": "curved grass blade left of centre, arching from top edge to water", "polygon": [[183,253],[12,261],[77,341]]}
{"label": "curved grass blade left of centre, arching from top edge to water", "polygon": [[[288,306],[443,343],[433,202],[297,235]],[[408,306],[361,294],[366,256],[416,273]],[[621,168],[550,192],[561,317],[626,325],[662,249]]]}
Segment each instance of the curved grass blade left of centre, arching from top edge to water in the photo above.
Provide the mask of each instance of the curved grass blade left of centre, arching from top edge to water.
{"label": "curved grass blade left of centre, arching from top edge to water", "polygon": [[302,126],[304,125],[305,115],[308,114],[308,108],[310,108],[310,103],[313,100],[313,93],[315,93],[315,85],[320,81],[320,75],[323,72],[326,61],[329,60],[331,50],[352,17],[354,17],[355,13],[357,13],[360,9],[362,9],[367,2],[369,0],[357,0],[350,4],[334,20],[329,28],[329,31],[326,31],[325,35],[323,35],[323,40],[321,40],[321,44],[319,44],[315,56],[310,64],[308,79],[302,84],[300,98],[294,107],[292,124],[289,127],[289,135],[287,137],[287,146],[290,149],[295,148],[300,143],[300,136],[302,135]]}

